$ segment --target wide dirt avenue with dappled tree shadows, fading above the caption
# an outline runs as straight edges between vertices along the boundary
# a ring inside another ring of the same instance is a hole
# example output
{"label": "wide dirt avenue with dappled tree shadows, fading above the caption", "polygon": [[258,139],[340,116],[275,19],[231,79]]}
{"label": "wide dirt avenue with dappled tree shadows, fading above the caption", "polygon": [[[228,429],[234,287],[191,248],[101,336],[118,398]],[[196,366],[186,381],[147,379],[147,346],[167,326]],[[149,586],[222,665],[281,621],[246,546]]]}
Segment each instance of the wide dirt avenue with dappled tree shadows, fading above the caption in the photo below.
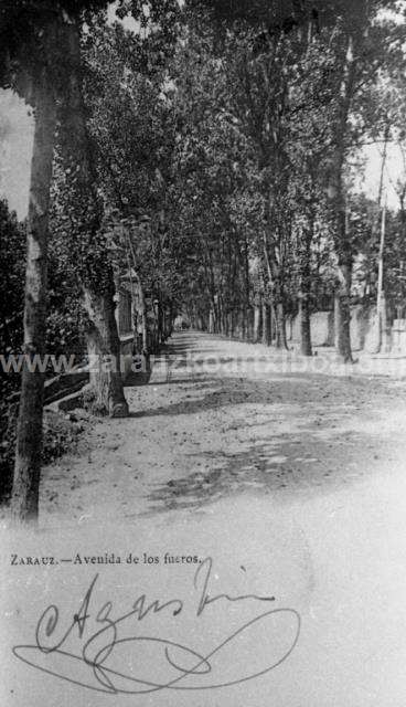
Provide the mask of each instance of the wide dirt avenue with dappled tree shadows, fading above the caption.
{"label": "wide dirt avenue with dappled tree shadows, fading above the caption", "polygon": [[131,416],[94,422],[44,471],[42,523],[127,521],[247,492],[285,504],[391,475],[406,458],[405,388],[178,334],[150,383],[126,389]]}

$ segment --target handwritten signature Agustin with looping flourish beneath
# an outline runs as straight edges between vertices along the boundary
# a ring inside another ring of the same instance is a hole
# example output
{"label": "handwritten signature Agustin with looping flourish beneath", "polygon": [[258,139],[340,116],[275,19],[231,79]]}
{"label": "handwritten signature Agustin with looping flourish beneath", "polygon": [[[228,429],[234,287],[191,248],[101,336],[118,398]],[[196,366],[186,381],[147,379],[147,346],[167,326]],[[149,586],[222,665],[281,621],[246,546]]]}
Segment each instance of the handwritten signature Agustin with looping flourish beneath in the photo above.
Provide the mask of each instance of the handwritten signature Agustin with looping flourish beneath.
{"label": "handwritten signature Agustin with looping flourish beneath", "polygon": [[[197,592],[197,602],[193,604],[192,615],[194,622],[202,624],[196,629],[203,629],[207,621],[215,621],[215,627],[218,627],[218,612],[212,615],[214,605],[222,610],[233,605],[237,610],[243,605],[250,609],[248,602],[257,605],[275,601],[274,597],[256,594],[211,595],[212,570],[213,560],[207,558],[194,574],[193,589]],[[35,643],[14,646],[13,654],[38,671],[74,685],[109,695],[137,695],[162,689],[215,689],[258,678],[281,665],[299,640],[300,615],[295,609],[267,610],[242,625],[239,618],[238,627],[229,633],[228,624],[226,636],[209,652],[168,637],[139,635],[138,632],[133,635],[135,620],[141,622],[148,618],[156,621],[157,614],[162,614],[172,622],[178,621],[182,613],[186,613],[185,601],[170,599],[161,603],[156,599],[149,603],[142,594],[131,611],[114,619],[111,601],[99,610],[93,609],[98,574],[62,635],[60,610],[52,604],[38,622]],[[233,611],[234,623],[235,616],[238,619],[238,611]],[[92,621],[97,630],[87,637]],[[203,633],[199,632],[200,642],[204,641]]]}

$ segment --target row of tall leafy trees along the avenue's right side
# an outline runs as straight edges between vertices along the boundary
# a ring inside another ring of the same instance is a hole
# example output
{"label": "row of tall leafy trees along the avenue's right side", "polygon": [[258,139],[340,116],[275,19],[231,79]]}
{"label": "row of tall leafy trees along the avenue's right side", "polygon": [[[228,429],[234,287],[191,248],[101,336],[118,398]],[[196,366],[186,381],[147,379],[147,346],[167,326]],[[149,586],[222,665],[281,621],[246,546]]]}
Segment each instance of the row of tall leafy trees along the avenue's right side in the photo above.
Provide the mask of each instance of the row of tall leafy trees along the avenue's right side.
{"label": "row of tall leafy trees along the avenue's right side", "polygon": [[[387,143],[404,135],[405,31],[391,4],[334,3],[336,14],[310,13],[296,31],[260,43],[246,25],[220,46],[211,29],[190,36],[181,84],[193,115],[181,191],[185,182],[197,196],[186,200],[184,220],[202,234],[210,305],[199,291],[195,309],[214,330],[254,327],[257,339],[263,320],[267,341],[273,312],[276,342],[286,347],[286,315],[299,313],[301,351],[311,355],[310,314],[334,299],[338,352],[352,359],[350,305],[362,268],[364,295],[376,299],[383,205],[382,186],[367,200],[354,179],[364,145],[383,146],[383,168]],[[398,187],[387,239],[397,266]]]}

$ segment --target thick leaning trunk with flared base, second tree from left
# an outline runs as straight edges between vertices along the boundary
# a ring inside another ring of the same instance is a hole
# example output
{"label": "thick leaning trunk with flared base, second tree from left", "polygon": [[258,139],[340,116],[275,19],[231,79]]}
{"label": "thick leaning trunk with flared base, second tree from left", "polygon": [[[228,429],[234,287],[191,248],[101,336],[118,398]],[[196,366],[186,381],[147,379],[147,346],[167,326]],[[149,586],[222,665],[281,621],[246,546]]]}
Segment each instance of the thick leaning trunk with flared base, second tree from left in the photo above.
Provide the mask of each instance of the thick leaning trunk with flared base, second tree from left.
{"label": "thick leaning trunk with flared base, second tree from left", "polygon": [[[117,371],[114,370],[115,367],[109,370],[103,362],[107,355],[113,359],[119,356],[119,337],[114,316],[114,274],[103,242],[101,207],[96,191],[97,176],[86,123],[78,24],[66,24],[66,32],[72,62],[62,125],[62,154],[65,158],[64,167],[70,167],[68,173],[73,176],[68,184],[68,198],[74,200],[75,213],[81,213],[78,231],[72,235],[82,245],[78,270],[90,317],[88,354],[101,357],[98,365],[100,372],[92,376],[90,382],[100,411],[122,416],[128,414],[128,407],[119,368]],[[83,247],[84,240],[87,241],[86,249]],[[101,372],[101,369],[105,370]]]}

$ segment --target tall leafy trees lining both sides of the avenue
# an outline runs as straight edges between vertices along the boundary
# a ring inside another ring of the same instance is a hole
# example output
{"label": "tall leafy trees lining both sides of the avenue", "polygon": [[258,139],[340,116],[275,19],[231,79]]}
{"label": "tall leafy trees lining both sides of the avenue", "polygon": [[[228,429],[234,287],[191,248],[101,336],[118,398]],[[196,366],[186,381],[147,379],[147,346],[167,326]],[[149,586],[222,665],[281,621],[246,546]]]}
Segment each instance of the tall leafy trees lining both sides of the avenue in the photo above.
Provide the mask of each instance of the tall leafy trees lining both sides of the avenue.
{"label": "tall leafy trees lining both sides of the avenue", "polygon": [[[334,299],[338,351],[351,360],[354,284],[376,294],[383,191],[368,200],[353,182],[365,143],[385,156],[404,139],[404,23],[393,0],[282,6],[120,0],[133,31],[109,23],[103,0],[1,4],[1,85],[35,112],[24,352],[43,354],[52,317],[63,318],[58,346],[86,340],[100,360],[100,412],[128,413],[119,372],[101,365],[119,355],[126,270],[173,316],[229,336],[287,346],[286,318],[299,312],[304,355],[311,312]],[[400,187],[386,241],[395,304]],[[25,367],[20,519],[38,514],[43,389]]]}

